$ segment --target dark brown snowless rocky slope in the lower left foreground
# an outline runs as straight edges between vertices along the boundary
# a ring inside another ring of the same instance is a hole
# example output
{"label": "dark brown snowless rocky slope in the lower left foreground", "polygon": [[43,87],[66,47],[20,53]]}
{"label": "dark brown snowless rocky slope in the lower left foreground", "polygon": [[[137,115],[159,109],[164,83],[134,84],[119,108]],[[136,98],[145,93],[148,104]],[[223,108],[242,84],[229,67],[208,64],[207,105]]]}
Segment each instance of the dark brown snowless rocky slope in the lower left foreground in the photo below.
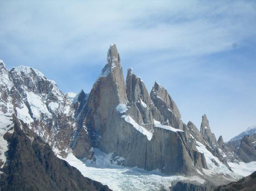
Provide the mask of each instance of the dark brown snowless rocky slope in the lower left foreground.
{"label": "dark brown snowless rocky slope in the lower left foreground", "polygon": [[0,173],[0,190],[110,190],[57,158],[49,145],[26,129],[21,130],[16,120],[14,133],[5,134],[8,163]]}

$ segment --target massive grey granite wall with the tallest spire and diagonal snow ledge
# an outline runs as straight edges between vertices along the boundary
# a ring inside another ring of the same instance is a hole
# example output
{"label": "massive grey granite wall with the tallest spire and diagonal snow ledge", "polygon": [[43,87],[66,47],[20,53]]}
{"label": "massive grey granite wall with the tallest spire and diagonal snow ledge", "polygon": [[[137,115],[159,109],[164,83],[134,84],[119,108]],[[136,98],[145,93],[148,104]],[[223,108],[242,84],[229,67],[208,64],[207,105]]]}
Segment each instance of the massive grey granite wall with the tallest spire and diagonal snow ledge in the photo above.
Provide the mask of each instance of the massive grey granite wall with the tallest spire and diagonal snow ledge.
{"label": "massive grey granite wall with the tallest spire and diagonal snow ledge", "polygon": [[[179,121],[180,114],[174,101],[162,87],[156,87],[158,90],[166,101],[162,103],[166,105],[166,111],[171,111],[166,120],[175,112],[176,122]],[[125,158],[123,165],[149,171],[159,169],[167,174],[188,174],[195,172],[195,165],[203,166],[201,159],[204,156],[188,144],[185,132],[154,125],[154,120],[164,121],[164,117],[155,107],[142,80],[131,69],[127,72],[125,86],[115,45],[110,46],[108,63],[94,83],[84,111],[84,124],[93,140],[92,146],[122,156]],[[196,153],[200,157],[194,158]],[[197,160],[195,165],[194,159]]]}

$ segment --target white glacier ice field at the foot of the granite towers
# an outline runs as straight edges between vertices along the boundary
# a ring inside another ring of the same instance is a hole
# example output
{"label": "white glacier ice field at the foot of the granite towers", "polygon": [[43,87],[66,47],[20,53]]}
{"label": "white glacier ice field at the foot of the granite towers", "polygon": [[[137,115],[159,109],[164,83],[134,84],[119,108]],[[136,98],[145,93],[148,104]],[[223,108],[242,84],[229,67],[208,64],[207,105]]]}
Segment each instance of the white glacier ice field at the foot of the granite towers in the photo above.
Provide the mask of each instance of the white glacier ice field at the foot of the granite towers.
{"label": "white glacier ice field at the foot of the granite towers", "polygon": [[[172,182],[179,180],[196,181],[200,184],[205,182],[200,176],[167,176],[159,171],[145,171],[137,167],[129,168],[111,164],[112,153],[105,154],[97,148],[94,148],[93,151],[96,156],[96,164],[90,160],[79,160],[73,154],[69,154],[64,160],[79,169],[85,177],[106,184],[114,191],[168,189]],[[59,155],[58,157],[61,158]],[[123,158],[118,160],[120,162]],[[231,167],[234,168],[233,171],[237,175],[247,176],[256,171],[256,162],[233,164]]]}

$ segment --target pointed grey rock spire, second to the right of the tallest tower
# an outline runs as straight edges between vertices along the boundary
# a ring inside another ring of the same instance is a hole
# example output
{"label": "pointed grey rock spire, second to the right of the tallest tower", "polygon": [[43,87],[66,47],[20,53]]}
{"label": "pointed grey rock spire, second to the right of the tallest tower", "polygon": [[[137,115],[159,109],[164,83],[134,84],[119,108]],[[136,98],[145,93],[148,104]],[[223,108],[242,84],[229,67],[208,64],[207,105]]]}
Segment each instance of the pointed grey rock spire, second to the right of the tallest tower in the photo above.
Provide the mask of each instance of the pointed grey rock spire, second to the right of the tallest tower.
{"label": "pointed grey rock spire, second to the right of the tallest tower", "polygon": [[164,117],[164,125],[170,125],[176,129],[183,129],[183,122],[180,120],[181,115],[177,105],[171,96],[162,86],[155,82],[150,92],[150,97],[155,107]]}

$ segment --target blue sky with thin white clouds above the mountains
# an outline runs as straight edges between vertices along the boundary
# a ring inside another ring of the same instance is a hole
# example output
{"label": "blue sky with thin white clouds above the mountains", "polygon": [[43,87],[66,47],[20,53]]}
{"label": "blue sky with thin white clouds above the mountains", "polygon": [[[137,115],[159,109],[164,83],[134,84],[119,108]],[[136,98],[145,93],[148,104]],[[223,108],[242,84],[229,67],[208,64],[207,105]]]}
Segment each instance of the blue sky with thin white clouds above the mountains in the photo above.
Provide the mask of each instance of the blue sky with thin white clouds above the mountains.
{"label": "blue sky with thin white clouds above the mountains", "polygon": [[256,125],[255,1],[2,1],[0,59],[63,92],[89,92],[117,44],[148,91],[165,87],[185,123],[207,114],[224,140]]}

